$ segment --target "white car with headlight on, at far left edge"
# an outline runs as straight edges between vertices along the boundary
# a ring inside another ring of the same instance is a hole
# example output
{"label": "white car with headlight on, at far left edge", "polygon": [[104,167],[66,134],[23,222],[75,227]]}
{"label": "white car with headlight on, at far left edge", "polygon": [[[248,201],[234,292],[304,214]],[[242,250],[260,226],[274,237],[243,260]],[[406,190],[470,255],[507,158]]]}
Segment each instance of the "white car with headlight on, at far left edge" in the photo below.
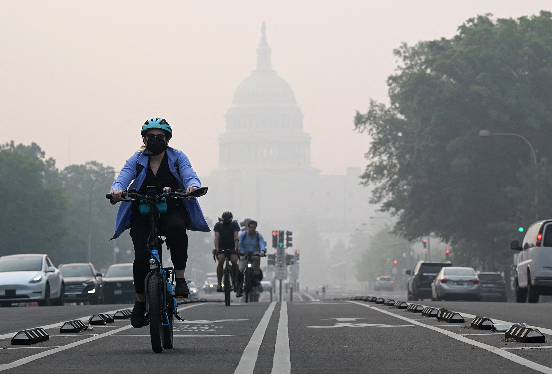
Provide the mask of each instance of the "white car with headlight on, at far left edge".
{"label": "white car with headlight on, at far left edge", "polygon": [[63,305],[63,288],[61,271],[45,254],[0,257],[0,306],[29,301]]}

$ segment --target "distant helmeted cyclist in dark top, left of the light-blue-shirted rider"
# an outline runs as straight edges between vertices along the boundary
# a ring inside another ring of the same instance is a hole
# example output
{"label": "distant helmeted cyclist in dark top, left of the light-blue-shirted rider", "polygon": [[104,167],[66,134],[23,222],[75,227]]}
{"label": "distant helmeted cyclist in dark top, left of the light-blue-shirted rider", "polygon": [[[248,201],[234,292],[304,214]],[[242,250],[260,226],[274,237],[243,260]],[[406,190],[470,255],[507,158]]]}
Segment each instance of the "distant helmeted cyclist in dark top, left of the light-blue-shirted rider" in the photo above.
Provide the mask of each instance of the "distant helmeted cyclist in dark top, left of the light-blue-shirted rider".
{"label": "distant helmeted cyclist in dark top, left of the light-blue-shirted rider", "polygon": [[234,292],[238,292],[238,232],[240,232],[240,225],[236,221],[232,221],[233,215],[231,212],[222,213],[222,217],[219,218],[219,222],[215,223],[213,231],[215,232],[215,249],[213,254],[216,255],[216,259],[219,260],[219,264],[216,266],[216,277],[219,281],[219,285],[216,287],[216,292],[222,292],[222,274],[224,270],[224,262],[226,255],[230,255],[230,262],[232,263],[232,284],[234,285]]}

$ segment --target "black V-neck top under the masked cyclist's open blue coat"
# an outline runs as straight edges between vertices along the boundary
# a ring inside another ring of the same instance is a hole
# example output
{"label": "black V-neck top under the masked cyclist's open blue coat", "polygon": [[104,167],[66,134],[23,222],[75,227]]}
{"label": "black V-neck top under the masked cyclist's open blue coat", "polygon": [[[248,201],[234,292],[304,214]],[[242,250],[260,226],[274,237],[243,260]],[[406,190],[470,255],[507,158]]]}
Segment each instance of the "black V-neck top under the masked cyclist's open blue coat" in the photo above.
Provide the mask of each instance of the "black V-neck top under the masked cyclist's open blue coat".
{"label": "black V-neck top under the masked cyclist's open blue coat", "polygon": [[[170,187],[171,191],[176,191],[178,187],[178,180],[171,173],[169,169],[169,162],[167,153],[163,157],[159,169],[157,169],[157,174],[153,174],[153,170],[150,167],[150,163],[147,164],[146,178],[140,186],[138,193],[140,195],[147,195],[148,186],[155,186],[155,192],[158,195],[163,193],[163,188]],[[167,210],[178,209],[184,207],[184,202],[181,199],[166,199],[167,200]],[[185,210],[185,209],[184,209]],[[132,202],[132,216],[142,216],[140,214],[140,201]],[[147,217],[147,215],[143,215]]]}

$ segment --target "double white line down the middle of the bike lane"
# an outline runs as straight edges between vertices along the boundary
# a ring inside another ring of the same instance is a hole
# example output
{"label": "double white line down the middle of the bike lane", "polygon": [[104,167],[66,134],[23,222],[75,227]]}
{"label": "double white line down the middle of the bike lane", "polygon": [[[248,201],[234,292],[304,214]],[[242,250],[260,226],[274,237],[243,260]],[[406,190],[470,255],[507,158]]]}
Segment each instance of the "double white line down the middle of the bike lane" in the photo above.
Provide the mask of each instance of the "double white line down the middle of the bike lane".
{"label": "double white line down the middle of the bike lane", "polygon": [[[259,348],[263,343],[264,333],[267,330],[270,317],[274,312],[276,302],[270,303],[264,312],[261,322],[253,332],[249,343],[243,351],[240,364],[236,367],[234,374],[253,374]],[[276,332],[276,345],[274,346],[274,359],[271,374],[289,374],[291,372],[291,361],[289,359],[289,334],[288,334],[288,303],[282,302],[280,306],[280,318]]]}

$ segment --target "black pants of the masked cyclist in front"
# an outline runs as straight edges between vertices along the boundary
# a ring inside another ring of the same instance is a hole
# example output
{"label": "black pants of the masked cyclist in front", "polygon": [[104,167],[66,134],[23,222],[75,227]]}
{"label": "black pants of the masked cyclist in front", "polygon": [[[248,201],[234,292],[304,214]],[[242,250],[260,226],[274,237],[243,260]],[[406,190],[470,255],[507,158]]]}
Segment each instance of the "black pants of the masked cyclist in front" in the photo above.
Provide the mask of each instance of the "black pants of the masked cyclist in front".
{"label": "black pants of the masked cyclist in front", "polygon": [[[157,230],[167,237],[171,248],[171,260],[174,269],[183,270],[188,260],[188,234],[186,227],[190,223],[188,212],[184,207],[176,207],[163,213],[157,221]],[[136,293],[144,293],[144,280],[150,273],[150,252],[147,250],[147,238],[150,235],[150,217],[132,215],[130,220],[130,237],[134,244],[134,288]]]}

